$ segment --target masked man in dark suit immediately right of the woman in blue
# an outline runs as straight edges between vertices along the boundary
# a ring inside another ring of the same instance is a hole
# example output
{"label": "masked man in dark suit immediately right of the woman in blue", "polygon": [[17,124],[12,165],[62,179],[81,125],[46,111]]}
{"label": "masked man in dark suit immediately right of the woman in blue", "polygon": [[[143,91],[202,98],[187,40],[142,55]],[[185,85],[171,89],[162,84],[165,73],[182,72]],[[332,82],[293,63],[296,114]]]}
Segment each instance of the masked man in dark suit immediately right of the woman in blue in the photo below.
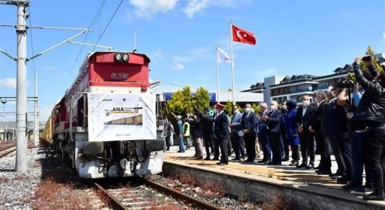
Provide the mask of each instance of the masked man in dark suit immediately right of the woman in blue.
{"label": "masked man in dark suit immediately right of the woman in blue", "polygon": [[[297,167],[305,167],[306,169],[314,168],[314,133],[309,130],[310,117],[312,116],[313,111],[314,107],[310,105],[310,97],[304,95],[302,97],[302,106],[297,109],[296,116],[302,155],[302,164]],[[307,165],[307,155],[310,157],[309,165]]]}

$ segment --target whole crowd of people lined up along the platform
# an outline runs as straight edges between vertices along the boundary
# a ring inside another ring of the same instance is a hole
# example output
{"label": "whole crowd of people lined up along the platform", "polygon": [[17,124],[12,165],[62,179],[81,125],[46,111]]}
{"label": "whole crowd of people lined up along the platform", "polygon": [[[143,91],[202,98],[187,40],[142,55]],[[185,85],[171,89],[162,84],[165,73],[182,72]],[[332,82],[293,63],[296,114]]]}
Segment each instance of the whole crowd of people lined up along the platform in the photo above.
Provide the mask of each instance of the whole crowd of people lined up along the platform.
{"label": "whole crowd of people lined up along the platform", "polygon": [[[191,135],[194,157],[204,158],[204,145],[205,159],[219,160],[219,165],[228,164],[232,152],[232,160],[255,162],[260,148],[263,158],[258,163],[281,165],[289,160],[291,150],[290,166],[316,169],[366,200],[385,200],[385,73],[377,70],[371,59],[361,59],[357,57],[353,63],[356,82],[345,79],[327,91],[304,95],[300,106],[294,99],[281,107],[273,100],[270,106],[260,103],[260,112],[255,113],[247,103],[242,113],[234,105],[230,117],[225,105],[217,103],[215,116],[209,114],[209,107],[203,113],[196,109],[184,119],[174,114],[178,152],[190,147]],[[367,70],[361,69],[361,62]],[[190,133],[191,125],[194,133]],[[172,129],[171,123],[167,127]],[[167,135],[169,150],[171,132]],[[317,166],[316,154],[321,157]],[[334,173],[331,155],[338,166]]]}

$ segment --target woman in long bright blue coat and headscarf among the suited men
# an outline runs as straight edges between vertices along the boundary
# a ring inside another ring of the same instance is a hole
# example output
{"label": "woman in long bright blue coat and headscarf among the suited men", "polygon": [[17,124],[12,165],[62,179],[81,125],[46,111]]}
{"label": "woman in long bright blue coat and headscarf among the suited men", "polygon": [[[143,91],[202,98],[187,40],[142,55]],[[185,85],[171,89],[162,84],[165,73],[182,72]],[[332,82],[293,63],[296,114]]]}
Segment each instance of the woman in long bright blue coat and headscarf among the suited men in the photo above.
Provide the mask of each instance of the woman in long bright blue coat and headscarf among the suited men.
{"label": "woman in long bright blue coat and headscarf among the suited men", "polygon": [[291,147],[291,157],[293,160],[289,164],[290,166],[297,166],[299,162],[299,137],[297,131],[297,125],[295,116],[297,115],[297,101],[290,99],[286,101],[287,114],[285,116],[286,122],[286,136],[287,141]]}

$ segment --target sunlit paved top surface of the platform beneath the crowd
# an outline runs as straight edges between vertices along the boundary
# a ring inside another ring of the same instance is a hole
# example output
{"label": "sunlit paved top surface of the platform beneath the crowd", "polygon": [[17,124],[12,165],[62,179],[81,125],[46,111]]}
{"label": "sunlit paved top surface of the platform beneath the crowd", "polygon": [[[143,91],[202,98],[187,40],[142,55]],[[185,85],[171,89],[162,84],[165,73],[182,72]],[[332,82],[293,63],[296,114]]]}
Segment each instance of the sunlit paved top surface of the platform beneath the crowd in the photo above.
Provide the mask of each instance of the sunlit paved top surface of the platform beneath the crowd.
{"label": "sunlit paved top surface of the platform beneath the crowd", "polygon": [[[315,173],[315,169],[296,168],[295,166],[289,166],[291,162],[282,162],[282,165],[266,165],[263,163],[257,163],[258,160],[263,158],[257,158],[255,162],[242,162],[238,160],[231,160],[235,158],[233,153],[229,158],[228,165],[217,165],[218,161],[215,160],[203,160],[195,159],[192,156],[195,154],[195,148],[191,147],[183,153],[176,152],[178,146],[174,145],[170,147],[169,151],[164,152],[164,161],[172,164],[180,164],[188,167],[201,168],[212,172],[218,172],[221,174],[236,175],[251,180],[267,181],[278,186],[288,186],[290,188],[297,188],[304,190],[305,192],[320,193],[323,195],[335,195],[337,199],[345,199],[354,202],[374,204],[380,209],[385,208],[385,201],[365,201],[362,199],[362,195],[355,195],[342,189],[342,184],[338,184],[336,180],[333,180],[329,175],[318,175]],[[204,155],[206,157],[206,155]],[[213,155],[211,156],[213,158]],[[337,170],[337,163],[334,156],[332,158],[332,172]],[[315,166],[319,164],[320,156],[316,155]],[[354,208],[353,208],[354,209]]]}

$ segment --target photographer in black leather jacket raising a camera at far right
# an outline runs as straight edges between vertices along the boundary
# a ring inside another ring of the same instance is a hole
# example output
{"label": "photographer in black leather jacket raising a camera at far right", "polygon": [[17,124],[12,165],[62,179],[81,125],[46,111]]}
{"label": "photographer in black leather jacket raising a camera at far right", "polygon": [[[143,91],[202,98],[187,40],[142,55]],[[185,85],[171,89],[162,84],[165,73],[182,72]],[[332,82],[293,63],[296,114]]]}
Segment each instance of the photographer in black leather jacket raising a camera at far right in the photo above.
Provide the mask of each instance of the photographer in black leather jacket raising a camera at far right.
{"label": "photographer in black leather jacket raising a camera at far right", "polygon": [[385,74],[379,72],[373,81],[363,76],[360,62],[364,61],[369,67],[371,75],[374,75],[371,57],[356,57],[353,63],[354,74],[357,82],[365,89],[360,102],[352,117],[353,121],[364,123],[366,128],[365,145],[368,163],[373,173],[374,192],[363,196],[365,200],[384,200],[383,170],[385,170]]}

